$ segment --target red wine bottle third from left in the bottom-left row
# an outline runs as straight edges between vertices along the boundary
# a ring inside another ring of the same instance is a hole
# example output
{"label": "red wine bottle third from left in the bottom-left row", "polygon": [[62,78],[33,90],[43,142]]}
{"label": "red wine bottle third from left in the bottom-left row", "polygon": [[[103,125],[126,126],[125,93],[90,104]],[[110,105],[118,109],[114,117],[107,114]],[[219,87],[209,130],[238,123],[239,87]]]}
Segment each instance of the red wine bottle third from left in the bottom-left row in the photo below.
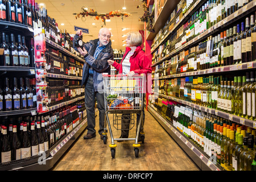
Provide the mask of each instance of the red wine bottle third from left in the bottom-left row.
{"label": "red wine bottle third from left in the bottom-left row", "polygon": [[23,125],[22,131],[22,144],[20,148],[20,159],[28,158],[31,156],[31,143],[27,133],[27,124]]}

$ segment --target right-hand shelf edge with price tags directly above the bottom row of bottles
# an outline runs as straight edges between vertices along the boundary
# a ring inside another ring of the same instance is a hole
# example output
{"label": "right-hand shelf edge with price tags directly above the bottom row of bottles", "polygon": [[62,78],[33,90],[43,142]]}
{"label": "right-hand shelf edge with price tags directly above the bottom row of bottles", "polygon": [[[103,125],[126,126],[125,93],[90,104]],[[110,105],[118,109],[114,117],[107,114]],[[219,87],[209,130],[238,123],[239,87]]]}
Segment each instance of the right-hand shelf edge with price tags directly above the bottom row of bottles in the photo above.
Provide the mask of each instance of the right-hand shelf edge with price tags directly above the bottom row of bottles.
{"label": "right-hand shelf edge with price tags directly above the bottom row of bottles", "polygon": [[179,98],[175,98],[175,97],[171,97],[171,96],[166,96],[164,94],[159,94],[159,93],[154,93],[154,94],[157,95],[157,96],[161,96],[161,97],[170,99],[172,101],[179,102],[181,104],[191,106],[195,109],[199,109],[199,110],[205,111],[205,112],[210,113],[210,114],[215,114],[219,117],[229,119],[230,121],[240,123],[241,125],[249,126],[251,128],[256,129],[256,121],[246,119],[246,118],[242,118],[242,117],[238,117],[237,115],[230,114],[230,113],[225,113],[224,111],[220,111],[220,110],[217,110],[217,109],[212,109],[212,108],[209,108],[209,107],[193,104],[191,102],[180,100]]}

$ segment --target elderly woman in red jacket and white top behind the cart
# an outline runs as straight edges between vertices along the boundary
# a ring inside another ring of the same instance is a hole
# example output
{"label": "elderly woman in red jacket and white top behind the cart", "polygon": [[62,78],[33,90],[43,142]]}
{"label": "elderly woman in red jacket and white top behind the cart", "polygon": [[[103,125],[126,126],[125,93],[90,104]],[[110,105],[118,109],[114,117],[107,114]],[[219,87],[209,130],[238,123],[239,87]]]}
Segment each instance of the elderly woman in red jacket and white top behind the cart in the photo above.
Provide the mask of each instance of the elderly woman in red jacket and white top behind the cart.
{"label": "elderly woman in red jacket and white top behind the cart", "polygon": [[[147,76],[148,73],[152,72],[151,60],[147,58],[144,51],[141,48],[143,43],[142,35],[139,32],[129,32],[126,39],[126,51],[123,55],[121,63],[117,63],[113,60],[108,60],[109,65],[113,65],[117,69],[119,74],[133,76],[135,74],[141,75],[142,73]],[[145,93],[145,92],[144,92]],[[144,98],[144,97],[143,97]],[[143,102],[143,101],[142,101]],[[137,123],[141,114],[137,114]],[[144,123],[144,108],[143,108],[143,120]],[[129,137],[129,124],[130,114],[122,115],[122,131],[120,138]],[[137,126],[138,127],[138,126]],[[139,139],[141,137],[139,136]],[[122,140],[118,140],[121,142]]]}

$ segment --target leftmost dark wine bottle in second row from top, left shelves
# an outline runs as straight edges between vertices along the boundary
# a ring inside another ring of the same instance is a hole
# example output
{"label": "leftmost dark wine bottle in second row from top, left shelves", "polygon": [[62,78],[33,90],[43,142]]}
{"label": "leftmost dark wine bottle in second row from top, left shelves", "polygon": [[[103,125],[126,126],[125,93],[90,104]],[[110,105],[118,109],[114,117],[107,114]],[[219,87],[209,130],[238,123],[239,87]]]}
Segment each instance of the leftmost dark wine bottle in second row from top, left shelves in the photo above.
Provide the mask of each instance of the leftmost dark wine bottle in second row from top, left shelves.
{"label": "leftmost dark wine bottle in second row from top, left shelves", "polygon": [[5,32],[2,32],[2,40],[1,40],[1,45],[0,48],[3,48],[3,55],[0,56],[0,64],[2,66],[7,66],[9,67],[11,65],[11,61],[10,61],[10,49],[8,44],[6,43],[6,34]]}

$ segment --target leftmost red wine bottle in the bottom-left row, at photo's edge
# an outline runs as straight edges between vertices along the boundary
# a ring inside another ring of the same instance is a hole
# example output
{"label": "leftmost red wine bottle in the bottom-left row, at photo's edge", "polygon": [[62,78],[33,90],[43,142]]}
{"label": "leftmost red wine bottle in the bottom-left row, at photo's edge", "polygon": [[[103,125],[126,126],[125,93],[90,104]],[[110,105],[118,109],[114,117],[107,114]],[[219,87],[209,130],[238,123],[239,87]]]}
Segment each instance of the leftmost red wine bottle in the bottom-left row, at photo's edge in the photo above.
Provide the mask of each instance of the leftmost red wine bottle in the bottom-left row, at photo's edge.
{"label": "leftmost red wine bottle in the bottom-left row, at photo's edge", "polygon": [[10,141],[7,137],[7,128],[2,128],[2,140],[1,140],[1,162],[6,163],[11,161],[11,147]]}

